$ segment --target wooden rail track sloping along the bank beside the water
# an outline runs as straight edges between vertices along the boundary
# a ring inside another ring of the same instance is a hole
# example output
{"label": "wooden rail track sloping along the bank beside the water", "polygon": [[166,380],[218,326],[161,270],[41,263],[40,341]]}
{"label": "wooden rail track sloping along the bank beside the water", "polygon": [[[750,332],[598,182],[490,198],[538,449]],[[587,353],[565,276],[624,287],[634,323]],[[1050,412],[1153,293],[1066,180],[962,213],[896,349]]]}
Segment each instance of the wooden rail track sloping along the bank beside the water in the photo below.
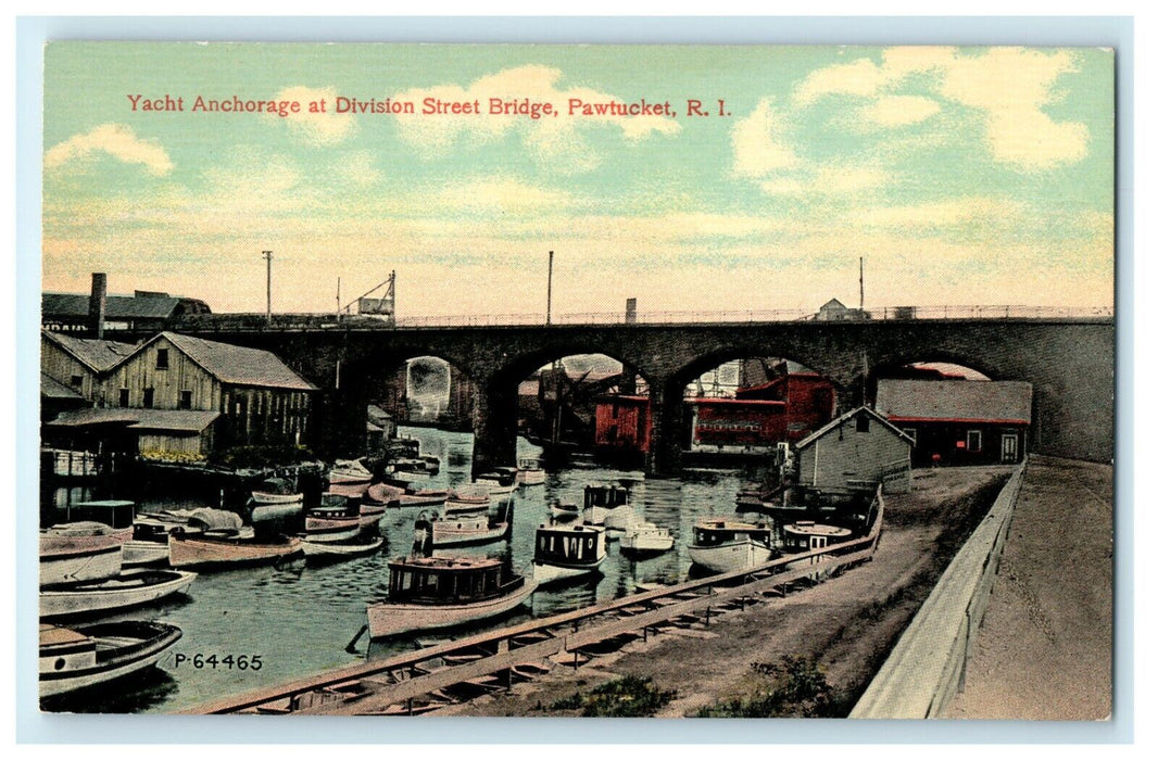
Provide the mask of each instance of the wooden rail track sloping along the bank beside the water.
{"label": "wooden rail track sloping along the bank beside the water", "polygon": [[186,714],[417,715],[467,701],[554,667],[574,669],[670,629],[702,629],[713,617],[783,598],[872,559],[885,504],[877,494],[867,536],[764,565],[621,597],[412,652],[328,671],[195,706]]}

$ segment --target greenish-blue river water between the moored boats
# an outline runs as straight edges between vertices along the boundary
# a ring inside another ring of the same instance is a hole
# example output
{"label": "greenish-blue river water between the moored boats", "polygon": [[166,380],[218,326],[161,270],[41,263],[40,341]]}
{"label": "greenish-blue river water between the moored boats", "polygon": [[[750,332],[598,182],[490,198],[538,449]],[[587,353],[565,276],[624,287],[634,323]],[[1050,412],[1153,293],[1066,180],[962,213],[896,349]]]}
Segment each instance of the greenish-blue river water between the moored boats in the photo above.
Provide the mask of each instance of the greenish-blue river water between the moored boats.
{"label": "greenish-blue river water between the moored boats", "polygon": [[[417,438],[423,453],[440,458],[441,471],[430,479],[430,487],[453,487],[469,481],[470,434],[404,427],[400,435]],[[535,457],[538,452],[536,447],[519,440],[520,457]],[[582,463],[548,471],[545,485],[521,487],[512,494],[514,527],[508,540],[454,552],[503,556],[510,559],[516,571],[529,573],[535,529],[549,521],[548,504],[555,500],[582,503],[585,485],[617,482],[631,488],[631,503],[647,521],[672,531],[675,548],[635,561],[622,556],[618,541],[611,541],[601,568],[603,575],[599,578],[536,590],[530,603],[519,611],[449,633],[432,632],[374,642],[362,635],[351,654],[347,645],[366,624],[367,603],[386,596],[387,561],[409,553],[415,517],[423,510],[422,507],[391,509],[381,526],[386,544],[374,555],[316,567],[296,561],[281,568],[203,573],[188,597],[108,618],[170,622],[181,627],[183,637],[164,655],[159,669],[107,688],[100,699],[89,694],[82,699],[61,699],[45,707],[74,711],[169,713],[356,664],[367,657],[386,657],[452,636],[584,607],[632,593],[638,584],[676,583],[688,577],[687,544],[692,524],[702,516],[733,514],[740,479],[735,471],[694,470],[680,479],[644,480],[640,472]],[[116,497],[116,494],[107,497]],[[59,494],[56,499],[60,499]],[[179,494],[152,495],[139,502],[139,509],[145,511],[203,506],[213,504]],[[195,667],[195,655],[201,655],[201,659],[215,656],[218,665]],[[237,663],[242,655],[247,664],[258,656],[261,666],[240,669]],[[223,664],[226,657],[230,658],[232,666]]]}

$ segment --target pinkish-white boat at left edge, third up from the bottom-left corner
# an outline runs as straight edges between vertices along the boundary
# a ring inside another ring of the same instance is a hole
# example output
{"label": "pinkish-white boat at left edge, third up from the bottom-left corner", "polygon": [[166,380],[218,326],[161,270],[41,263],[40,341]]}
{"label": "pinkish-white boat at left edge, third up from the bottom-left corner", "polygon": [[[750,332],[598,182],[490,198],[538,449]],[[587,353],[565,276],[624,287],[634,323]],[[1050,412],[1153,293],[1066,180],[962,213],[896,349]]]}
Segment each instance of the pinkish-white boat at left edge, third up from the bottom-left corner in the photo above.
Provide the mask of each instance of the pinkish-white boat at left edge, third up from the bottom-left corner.
{"label": "pinkish-white boat at left edge, third up from the bottom-left corner", "polygon": [[120,549],[133,529],[104,523],[63,523],[41,530],[41,585],[111,578],[120,573]]}

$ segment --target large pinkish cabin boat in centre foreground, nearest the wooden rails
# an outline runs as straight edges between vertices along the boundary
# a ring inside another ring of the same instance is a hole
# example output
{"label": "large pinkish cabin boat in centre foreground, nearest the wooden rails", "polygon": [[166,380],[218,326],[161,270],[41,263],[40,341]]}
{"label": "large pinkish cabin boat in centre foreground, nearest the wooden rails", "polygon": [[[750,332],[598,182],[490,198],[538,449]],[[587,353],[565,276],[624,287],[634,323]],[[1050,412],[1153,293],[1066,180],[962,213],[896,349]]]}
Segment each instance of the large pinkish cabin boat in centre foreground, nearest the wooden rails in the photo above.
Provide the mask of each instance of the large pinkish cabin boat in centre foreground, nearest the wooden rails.
{"label": "large pinkish cabin boat in centre foreground, nearest the wooden rails", "polygon": [[538,583],[491,558],[416,556],[390,565],[386,602],[366,607],[372,639],[449,628],[514,610]]}

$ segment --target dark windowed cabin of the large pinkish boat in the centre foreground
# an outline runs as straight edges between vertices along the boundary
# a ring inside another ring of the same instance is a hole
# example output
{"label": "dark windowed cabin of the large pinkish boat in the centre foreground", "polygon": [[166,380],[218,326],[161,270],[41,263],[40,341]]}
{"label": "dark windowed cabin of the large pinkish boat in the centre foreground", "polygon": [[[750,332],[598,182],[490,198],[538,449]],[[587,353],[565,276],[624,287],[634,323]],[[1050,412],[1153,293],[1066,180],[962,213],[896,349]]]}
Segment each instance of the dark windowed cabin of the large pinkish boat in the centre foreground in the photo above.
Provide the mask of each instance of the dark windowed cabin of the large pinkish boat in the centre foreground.
{"label": "dark windowed cabin of the large pinkish boat in the centre foreground", "polygon": [[416,604],[462,604],[501,596],[519,578],[504,573],[492,558],[412,556],[390,566],[390,600]]}

